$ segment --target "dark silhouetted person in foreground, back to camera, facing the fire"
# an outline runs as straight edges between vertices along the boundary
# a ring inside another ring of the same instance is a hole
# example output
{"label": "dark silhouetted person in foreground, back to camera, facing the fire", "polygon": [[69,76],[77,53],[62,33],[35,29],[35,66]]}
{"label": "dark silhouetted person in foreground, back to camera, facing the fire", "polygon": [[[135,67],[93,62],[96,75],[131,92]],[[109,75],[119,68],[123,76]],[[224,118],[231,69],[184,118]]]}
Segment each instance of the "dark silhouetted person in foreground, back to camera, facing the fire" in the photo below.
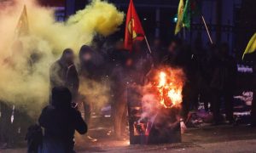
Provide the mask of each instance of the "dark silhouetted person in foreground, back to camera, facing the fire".
{"label": "dark silhouetted person in foreground, back to camera, facing the fire", "polygon": [[40,126],[44,127],[41,150],[43,153],[74,152],[75,130],[80,134],[87,132],[87,125],[80,112],[72,107],[71,92],[64,87],[52,89],[52,105],[44,108],[38,122]]}

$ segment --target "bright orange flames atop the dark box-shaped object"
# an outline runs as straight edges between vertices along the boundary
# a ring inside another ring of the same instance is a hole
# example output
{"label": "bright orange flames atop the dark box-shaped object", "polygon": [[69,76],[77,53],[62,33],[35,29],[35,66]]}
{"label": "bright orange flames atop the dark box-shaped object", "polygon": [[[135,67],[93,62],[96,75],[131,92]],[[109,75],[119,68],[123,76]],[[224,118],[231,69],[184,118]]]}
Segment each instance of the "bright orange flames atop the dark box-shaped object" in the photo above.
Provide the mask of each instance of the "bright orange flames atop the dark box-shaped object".
{"label": "bright orange flames atop the dark box-shaped object", "polygon": [[157,89],[160,97],[160,105],[165,108],[179,106],[182,103],[182,78],[175,71],[160,71]]}

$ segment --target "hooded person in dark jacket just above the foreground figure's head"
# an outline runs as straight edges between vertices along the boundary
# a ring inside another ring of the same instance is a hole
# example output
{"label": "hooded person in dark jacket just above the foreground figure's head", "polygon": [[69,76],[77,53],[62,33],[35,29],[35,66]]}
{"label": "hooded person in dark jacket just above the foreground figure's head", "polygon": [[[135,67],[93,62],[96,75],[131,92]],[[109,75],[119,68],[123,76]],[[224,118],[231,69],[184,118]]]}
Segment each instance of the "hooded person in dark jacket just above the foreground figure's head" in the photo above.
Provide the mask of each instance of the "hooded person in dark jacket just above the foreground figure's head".
{"label": "hooded person in dark jacket just above the foreground figure's head", "polygon": [[79,91],[79,75],[73,64],[73,59],[73,50],[65,49],[61,59],[51,65],[49,80],[51,89],[59,86],[67,87],[71,91],[73,99],[76,99]]}

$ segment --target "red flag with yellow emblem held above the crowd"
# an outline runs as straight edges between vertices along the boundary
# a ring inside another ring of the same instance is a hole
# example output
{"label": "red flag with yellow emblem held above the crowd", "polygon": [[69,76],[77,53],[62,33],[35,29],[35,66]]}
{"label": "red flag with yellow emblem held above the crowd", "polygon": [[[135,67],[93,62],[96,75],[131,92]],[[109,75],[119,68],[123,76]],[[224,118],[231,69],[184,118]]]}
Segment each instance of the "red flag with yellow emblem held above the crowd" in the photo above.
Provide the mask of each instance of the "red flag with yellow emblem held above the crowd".
{"label": "red flag with yellow emblem held above the crowd", "polygon": [[145,37],[143,26],[137,16],[133,1],[130,1],[126,14],[125,48],[131,51],[132,43],[136,40],[142,41]]}

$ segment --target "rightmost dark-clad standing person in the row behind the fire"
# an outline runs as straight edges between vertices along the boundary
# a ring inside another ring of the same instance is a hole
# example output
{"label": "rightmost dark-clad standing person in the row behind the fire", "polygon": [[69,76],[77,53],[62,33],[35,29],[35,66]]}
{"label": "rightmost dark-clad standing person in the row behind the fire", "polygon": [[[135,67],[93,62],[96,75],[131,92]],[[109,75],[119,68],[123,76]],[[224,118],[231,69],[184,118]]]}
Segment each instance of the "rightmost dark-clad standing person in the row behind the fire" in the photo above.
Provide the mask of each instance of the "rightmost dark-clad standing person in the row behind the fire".
{"label": "rightmost dark-clad standing person in the row behind the fire", "polygon": [[233,95],[236,89],[236,60],[229,55],[229,47],[222,44],[213,57],[213,75],[211,81],[214,123],[220,122],[221,98],[224,98],[226,121],[232,123]]}

